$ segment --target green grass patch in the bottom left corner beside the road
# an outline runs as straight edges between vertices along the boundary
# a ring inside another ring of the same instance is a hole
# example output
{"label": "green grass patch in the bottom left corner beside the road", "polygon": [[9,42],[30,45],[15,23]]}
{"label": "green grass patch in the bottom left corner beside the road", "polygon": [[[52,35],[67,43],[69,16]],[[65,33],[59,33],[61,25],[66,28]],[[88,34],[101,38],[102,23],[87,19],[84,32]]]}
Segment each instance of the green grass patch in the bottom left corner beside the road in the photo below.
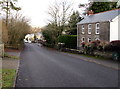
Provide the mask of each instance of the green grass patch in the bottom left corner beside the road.
{"label": "green grass patch in the bottom left corner beside the road", "polygon": [[14,84],[14,78],[16,74],[15,69],[2,69],[2,87],[5,89],[9,89],[10,87],[13,87]]}

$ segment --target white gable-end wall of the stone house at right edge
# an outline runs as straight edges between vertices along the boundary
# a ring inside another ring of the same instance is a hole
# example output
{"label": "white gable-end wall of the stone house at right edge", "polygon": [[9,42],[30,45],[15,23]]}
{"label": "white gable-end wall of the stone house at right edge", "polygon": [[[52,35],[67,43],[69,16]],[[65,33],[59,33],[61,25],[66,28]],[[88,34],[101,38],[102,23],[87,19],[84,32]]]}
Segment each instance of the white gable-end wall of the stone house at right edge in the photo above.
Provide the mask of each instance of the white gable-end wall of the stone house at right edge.
{"label": "white gable-end wall of the stone house at right edge", "polygon": [[120,15],[110,22],[110,41],[120,40]]}

